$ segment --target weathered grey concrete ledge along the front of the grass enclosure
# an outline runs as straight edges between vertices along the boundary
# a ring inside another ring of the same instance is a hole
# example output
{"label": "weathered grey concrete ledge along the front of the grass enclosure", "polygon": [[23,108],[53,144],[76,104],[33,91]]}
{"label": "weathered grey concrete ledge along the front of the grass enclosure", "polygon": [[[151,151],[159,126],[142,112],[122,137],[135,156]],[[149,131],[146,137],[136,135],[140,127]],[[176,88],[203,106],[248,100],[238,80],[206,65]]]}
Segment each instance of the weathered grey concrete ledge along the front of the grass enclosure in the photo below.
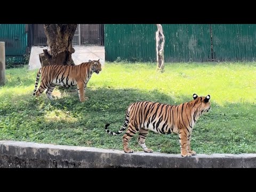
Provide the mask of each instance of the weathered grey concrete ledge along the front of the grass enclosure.
{"label": "weathered grey concrete ledge along the front of the grass enclosure", "polygon": [[256,154],[125,154],[121,150],[0,141],[0,167],[256,167]]}

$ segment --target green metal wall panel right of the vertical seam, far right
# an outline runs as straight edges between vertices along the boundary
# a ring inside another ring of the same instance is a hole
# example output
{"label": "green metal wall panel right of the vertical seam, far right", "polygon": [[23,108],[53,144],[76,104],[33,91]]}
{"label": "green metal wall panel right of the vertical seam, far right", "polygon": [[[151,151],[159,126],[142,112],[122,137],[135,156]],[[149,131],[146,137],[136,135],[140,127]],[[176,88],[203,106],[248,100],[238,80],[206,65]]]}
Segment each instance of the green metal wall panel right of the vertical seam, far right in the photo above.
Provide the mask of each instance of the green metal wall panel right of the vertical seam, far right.
{"label": "green metal wall panel right of the vertical seam, far right", "polygon": [[213,51],[219,61],[254,61],[256,25],[212,25]]}

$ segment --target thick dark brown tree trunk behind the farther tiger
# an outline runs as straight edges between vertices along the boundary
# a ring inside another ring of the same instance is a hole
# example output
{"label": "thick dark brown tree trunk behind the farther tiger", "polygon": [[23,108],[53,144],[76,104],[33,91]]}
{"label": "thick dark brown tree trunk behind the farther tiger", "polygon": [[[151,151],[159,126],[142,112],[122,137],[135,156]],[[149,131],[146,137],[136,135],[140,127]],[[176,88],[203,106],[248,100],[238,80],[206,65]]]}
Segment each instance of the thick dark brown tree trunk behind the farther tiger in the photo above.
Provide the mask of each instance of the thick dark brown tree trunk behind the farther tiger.
{"label": "thick dark brown tree trunk behind the farther tiger", "polygon": [[50,54],[44,51],[44,56],[50,65],[75,65],[71,54],[75,52],[72,39],[77,24],[44,24],[47,45]]}

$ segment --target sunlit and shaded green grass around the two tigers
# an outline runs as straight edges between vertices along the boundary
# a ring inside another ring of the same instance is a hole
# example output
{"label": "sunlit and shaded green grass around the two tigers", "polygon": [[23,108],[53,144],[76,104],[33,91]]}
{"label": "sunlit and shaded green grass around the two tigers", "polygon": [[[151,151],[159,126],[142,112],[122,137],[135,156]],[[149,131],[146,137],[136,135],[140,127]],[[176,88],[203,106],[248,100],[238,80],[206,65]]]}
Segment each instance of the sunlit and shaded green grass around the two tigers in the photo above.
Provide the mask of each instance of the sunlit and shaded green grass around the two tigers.
{"label": "sunlit and shaded green grass around the two tigers", "polygon": [[[199,118],[191,137],[197,153],[256,153],[256,63],[106,63],[93,74],[81,103],[77,92],[55,89],[58,98],[33,97],[37,71],[27,67],[6,70],[0,87],[0,140],[122,150],[117,131],[127,106],[135,101],[178,105],[193,93],[211,95],[212,109]],[[74,88],[71,90],[75,90]],[[141,151],[137,137],[130,146]],[[178,135],[149,132],[147,146],[154,151],[179,154]]]}

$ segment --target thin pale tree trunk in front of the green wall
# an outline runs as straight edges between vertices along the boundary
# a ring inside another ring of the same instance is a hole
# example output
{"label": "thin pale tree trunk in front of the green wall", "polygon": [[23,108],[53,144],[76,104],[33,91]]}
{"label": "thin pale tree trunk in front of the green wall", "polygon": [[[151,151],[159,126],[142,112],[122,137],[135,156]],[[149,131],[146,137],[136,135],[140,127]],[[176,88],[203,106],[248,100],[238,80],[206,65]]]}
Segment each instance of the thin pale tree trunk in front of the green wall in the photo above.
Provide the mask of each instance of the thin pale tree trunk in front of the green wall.
{"label": "thin pale tree trunk in front of the green wall", "polygon": [[157,70],[164,72],[164,33],[161,24],[156,24],[156,59]]}

